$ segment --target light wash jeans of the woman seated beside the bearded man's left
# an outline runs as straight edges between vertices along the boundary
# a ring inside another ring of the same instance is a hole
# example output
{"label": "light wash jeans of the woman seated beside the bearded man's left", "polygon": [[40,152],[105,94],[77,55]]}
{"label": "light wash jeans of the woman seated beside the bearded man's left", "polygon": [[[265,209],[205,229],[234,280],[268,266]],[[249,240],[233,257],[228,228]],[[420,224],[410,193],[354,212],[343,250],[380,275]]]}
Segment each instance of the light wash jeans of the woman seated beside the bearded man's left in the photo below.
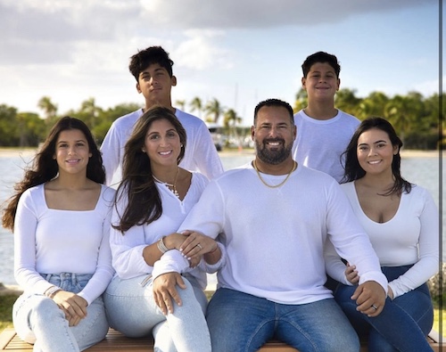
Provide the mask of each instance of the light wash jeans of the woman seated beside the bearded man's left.
{"label": "light wash jeans of the woman seated beside the bearded man's left", "polygon": [[121,280],[115,276],[103,295],[110,326],[128,337],[147,336],[162,352],[211,352],[211,338],[204,318],[207,299],[192,276],[183,276],[186,289],[177,286],[182,306],[163,315],[153,299],[151,275]]}

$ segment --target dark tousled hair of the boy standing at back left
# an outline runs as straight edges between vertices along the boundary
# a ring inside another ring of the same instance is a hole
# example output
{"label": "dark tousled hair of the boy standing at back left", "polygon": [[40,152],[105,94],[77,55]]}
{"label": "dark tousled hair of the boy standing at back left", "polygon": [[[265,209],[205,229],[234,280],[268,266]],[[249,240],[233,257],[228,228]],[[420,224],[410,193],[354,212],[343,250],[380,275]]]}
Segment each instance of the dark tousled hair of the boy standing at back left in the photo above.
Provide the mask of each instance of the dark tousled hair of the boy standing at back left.
{"label": "dark tousled hair of the boy standing at back left", "polygon": [[170,60],[169,53],[167,53],[161,46],[150,46],[145,50],[138,51],[130,58],[128,70],[130,70],[130,73],[136,78],[137,82],[139,74],[153,63],[158,63],[162,68],[166,69],[169,76],[172,77],[173,61]]}

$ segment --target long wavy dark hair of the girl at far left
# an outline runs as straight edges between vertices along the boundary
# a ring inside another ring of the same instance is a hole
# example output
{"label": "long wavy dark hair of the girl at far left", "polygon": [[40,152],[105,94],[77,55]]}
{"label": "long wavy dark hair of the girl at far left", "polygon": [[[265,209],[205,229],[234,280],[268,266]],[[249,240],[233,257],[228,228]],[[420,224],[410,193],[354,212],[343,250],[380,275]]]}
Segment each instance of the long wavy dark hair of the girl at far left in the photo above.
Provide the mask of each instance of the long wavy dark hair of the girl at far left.
{"label": "long wavy dark hair of the girl at far left", "polygon": [[105,180],[103,157],[87,125],[80,119],[70,118],[69,116],[59,119],[46,137],[42,148],[31,161],[31,166],[25,168],[25,176],[21,182],[14,185],[15,194],[12,195],[4,208],[4,215],[2,217],[4,228],[13,230],[17,205],[23,192],[37,184],[44,184],[57,176],[59,167],[57,161],[54,160],[57,139],[62,131],[72,129],[78,129],[86,136],[88,149],[92,154],[87,164],[87,178],[98,184],[103,184]]}

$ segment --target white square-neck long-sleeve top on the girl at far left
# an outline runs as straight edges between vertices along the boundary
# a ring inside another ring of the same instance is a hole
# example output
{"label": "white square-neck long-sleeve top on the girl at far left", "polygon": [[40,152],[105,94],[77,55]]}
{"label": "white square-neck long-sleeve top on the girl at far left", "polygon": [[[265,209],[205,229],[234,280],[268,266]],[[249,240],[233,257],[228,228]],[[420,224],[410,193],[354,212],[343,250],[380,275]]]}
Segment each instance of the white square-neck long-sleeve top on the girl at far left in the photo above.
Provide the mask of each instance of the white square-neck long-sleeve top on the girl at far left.
{"label": "white square-neck long-sleeve top on the girl at far left", "polygon": [[93,274],[78,293],[90,304],[111,281],[109,245],[114,190],[102,186],[94,210],[49,209],[45,184],[23,192],[14,223],[14,274],[24,291],[53,286],[41,274]]}

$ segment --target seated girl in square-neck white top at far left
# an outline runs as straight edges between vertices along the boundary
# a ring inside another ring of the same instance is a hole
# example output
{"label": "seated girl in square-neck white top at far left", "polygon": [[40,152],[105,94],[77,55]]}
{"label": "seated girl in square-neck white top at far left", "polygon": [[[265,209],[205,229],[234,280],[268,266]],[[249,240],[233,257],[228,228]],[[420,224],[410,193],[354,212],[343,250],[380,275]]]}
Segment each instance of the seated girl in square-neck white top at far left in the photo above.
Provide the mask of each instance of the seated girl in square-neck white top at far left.
{"label": "seated girl in square-neck white top at far left", "polygon": [[65,117],[4,210],[23,289],[12,321],[34,351],[81,351],[108,331],[101,295],[114,274],[108,235],[114,191],[104,179],[88,127]]}

